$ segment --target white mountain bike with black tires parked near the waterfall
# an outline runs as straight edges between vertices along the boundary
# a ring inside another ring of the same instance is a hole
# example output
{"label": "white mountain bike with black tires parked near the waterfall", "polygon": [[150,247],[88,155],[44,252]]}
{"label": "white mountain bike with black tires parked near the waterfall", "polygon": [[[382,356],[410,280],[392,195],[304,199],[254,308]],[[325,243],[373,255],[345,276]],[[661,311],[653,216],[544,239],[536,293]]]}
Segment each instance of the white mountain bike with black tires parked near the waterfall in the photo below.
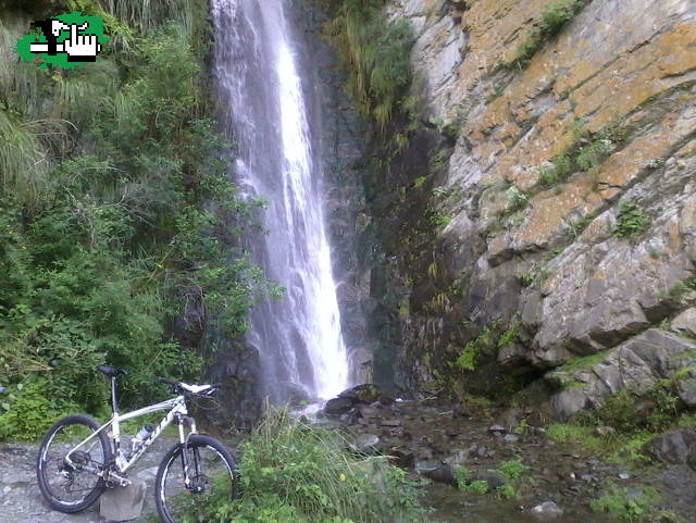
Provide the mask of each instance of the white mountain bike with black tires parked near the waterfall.
{"label": "white mountain bike with black tires parked near the waterfall", "polygon": [[[195,518],[197,507],[213,497],[235,499],[239,476],[232,451],[221,441],[198,434],[188,414],[187,398],[212,397],[214,385],[189,385],[159,377],[171,385],[175,398],[119,414],[117,377],[127,374],[113,366],[97,368],[111,378],[111,420],[100,425],[83,414],[71,414],[47,433],[36,462],[39,488],[49,505],[74,513],[91,506],[104,488],[130,484],[127,471],[172,422],[178,425],[179,443],[160,463],[154,488],[157,510],[165,523]],[[121,423],[157,411],[169,411],[158,425],[146,425],[133,439],[132,448],[121,445]],[[185,426],[188,427],[186,434]]]}

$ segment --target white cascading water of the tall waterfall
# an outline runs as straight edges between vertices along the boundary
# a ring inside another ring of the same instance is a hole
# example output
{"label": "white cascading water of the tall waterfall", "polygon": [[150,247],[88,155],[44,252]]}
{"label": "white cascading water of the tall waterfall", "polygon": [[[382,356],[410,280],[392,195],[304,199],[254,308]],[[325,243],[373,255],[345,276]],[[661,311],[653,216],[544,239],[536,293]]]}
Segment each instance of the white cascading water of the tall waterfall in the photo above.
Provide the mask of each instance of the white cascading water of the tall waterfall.
{"label": "white cascading water of the tall waterfall", "polygon": [[348,386],[336,285],[325,233],[321,162],[312,144],[284,0],[212,0],[221,120],[239,148],[233,177],[268,200],[254,261],[284,286],[251,313],[247,341],[261,356],[264,393],[298,385],[328,398]]}

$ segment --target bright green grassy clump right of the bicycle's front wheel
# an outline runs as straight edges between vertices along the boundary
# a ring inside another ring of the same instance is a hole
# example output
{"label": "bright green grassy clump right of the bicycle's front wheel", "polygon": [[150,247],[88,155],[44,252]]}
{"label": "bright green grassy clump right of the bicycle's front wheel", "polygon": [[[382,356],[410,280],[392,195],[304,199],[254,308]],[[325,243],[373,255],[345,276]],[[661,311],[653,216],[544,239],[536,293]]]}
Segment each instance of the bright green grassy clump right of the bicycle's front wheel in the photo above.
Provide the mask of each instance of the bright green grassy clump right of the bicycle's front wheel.
{"label": "bright green grassy clump right of the bicycle's front wheel", "polygon": [[271,412],[243,449],[243,499],[220,499],[196,521],[219,523],[421,523],[406,473],[384,457],[350,453],[336,431]]}

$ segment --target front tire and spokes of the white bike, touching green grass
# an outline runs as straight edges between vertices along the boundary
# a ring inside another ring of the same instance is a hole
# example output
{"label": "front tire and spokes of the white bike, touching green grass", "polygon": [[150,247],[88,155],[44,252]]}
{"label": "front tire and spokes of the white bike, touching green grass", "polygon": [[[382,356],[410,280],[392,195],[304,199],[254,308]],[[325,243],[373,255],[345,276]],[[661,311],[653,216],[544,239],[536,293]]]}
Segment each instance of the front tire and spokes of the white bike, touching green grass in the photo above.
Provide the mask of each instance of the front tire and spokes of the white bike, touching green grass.
{"label": "front tire and spokes of the white bike, touching green grass", "polygon": [[[182,513],[190,513],[196,511],[196,505],[200,508],[210,508],[208,501],[211,496],[227,497],[226,490],[229,489],[228,499],[234,500],[239,497],[239,474],[237,472],[237,461],[232,451],[222,441],[207,435],[192,434],[188,439],[186,447],[188,459],[194,456],[200,456],[206,450],[206,456],[209,450],[212,450],[211,463],[203,465],[206,457],[199,458],[198,464],[189,461],[189,477],[194,476],[192,488],[186,488],[184,485],[183,475],[183,454],[184,445],[177,444],[170,449],[164,456],[160,468],[157,472],[157,478],[154,481],[154,501],[157,505],[157,511],[160,519],[164,523],[183,523],[184,519]],[[181,464],[181,472],[175,471],[176,464]],[[209,465],[216,465],[216,469],[202,470]],[[222,466],[224,465],[224,468]],[[178,472],[178,473],[177,473]],[[224,485],[213,486],[210,482],[213,480],[209,474],[220,474],[220,477],[215,477],[215,482],[220,483],[220,478]],[[227,486],[227,481],[229,486]],[[196,487],[200,487],[200,491],[196,491]],[[217,488],[217,490],[215,490]],[[188,494],[191,494],[190,496]],[[197,520],[198,521],[198,520]]]}

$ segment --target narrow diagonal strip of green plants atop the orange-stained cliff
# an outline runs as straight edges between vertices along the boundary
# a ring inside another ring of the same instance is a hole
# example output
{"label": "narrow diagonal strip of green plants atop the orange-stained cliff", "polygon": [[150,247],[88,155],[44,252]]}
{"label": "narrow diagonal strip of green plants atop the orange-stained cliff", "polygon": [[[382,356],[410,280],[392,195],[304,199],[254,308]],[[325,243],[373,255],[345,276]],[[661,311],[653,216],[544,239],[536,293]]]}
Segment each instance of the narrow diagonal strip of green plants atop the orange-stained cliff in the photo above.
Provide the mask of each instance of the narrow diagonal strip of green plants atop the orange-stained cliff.
{"label": "narrow diagonal strip of green plants atop the orange-stained cliff", "polygon": [[544,7],[542,20],[527,33],[514,57],[502,65],[507,69],[524,69],[544,42],[557,35],[587,3],[586,0],[561,0]]}

